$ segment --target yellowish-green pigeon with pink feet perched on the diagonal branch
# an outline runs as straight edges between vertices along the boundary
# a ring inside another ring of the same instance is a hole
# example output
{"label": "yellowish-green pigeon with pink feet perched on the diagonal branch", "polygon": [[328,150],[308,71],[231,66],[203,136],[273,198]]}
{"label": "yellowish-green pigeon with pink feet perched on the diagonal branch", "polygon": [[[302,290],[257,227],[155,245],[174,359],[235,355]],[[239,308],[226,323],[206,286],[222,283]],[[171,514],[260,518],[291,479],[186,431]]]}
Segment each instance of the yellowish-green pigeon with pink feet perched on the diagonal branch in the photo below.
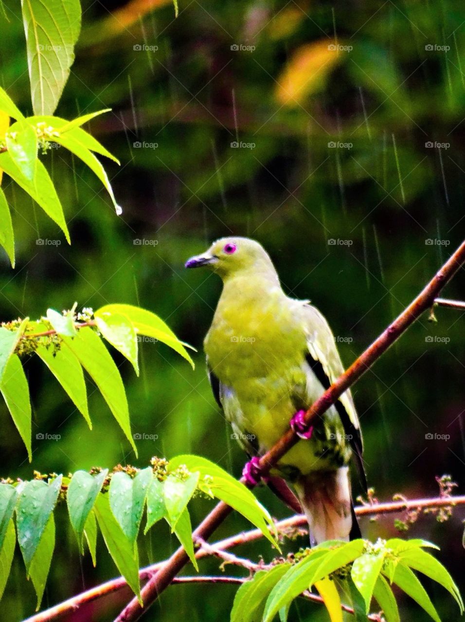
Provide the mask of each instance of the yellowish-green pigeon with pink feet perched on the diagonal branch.
{"label": "yellowish-green pigeon with pink feet perched on the diagonal branch", "polygon": [[218,239],[186,262],[199,266],[223,281],[204,349],[215,398],[251,457],[246,479],[258,483],[258,457],[290,423],[301,440],[271,470],[268,485],[293,509],[303,508],[317,543],[360,537],[350,493],[352,454],[365,487],[366,480],[350,391],[313,425],[303,424],[306,409],[344,371],[326,319],[308,300],[284,294],[270,256],[253,239]]}

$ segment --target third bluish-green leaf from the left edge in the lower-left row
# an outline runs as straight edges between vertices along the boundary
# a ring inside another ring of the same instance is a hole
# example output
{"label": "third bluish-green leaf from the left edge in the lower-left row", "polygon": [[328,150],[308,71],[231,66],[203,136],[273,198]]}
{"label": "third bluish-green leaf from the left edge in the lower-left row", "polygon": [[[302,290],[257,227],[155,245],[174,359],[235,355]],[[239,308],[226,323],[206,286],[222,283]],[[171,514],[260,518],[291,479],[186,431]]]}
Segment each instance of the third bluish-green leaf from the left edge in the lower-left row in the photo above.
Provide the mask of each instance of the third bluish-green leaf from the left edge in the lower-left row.
{"label": "third bluish-green leaf from the left edge in the lower-left row", "polygon": [[66,496],[68,513],[81,553],[83,553],[82,534],[85,524],[107,474],[108,469],[95,476],[86,471],[76,471],[68,485]]}

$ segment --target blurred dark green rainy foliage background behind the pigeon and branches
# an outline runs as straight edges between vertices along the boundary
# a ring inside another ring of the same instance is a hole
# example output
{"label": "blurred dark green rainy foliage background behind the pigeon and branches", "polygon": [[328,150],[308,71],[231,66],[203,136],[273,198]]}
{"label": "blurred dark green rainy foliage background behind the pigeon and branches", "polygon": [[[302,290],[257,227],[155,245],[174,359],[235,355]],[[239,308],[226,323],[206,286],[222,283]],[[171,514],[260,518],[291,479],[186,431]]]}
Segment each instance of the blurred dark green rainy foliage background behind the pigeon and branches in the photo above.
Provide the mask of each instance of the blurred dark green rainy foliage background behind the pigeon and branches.
{"label": "blurred dark green rainy foliage background behind the pigeon and branches", "polygon": [[[1,18],[0,80],[32,114],[18,2]],[[97,309],[138,304],[158,313],[198,348],[197,368],[164,345],[143,344],[141,378],[113,351],[128,391],[136,461],[103,399],[89,384],[94,429],[39,360],[26,361],[34,411],[32,464],[0,406],[2,476],[32,470],[68,473],[93,465],[148,464],[153,455],[199,453],[239,475],[244,456],[210,394],[202,339],[220,293],[217,277],[186,272],[184,261],[228,234],[258,239],[284,289],[326,315],[349,364],[420,291],[463,238],[465,189],[465,6],[452,0],[398,2],[83,1],[77,58],[58,116],[109,107],[90,131],[121,160],[106,162],[123,215],[110,207],[85,165],[52,149],[44,156],[72,237],[6,177],[13,208],[17,268],[0,257],[0,317],[37,318],[47,307]],[[239,144],[239,146],[234,146]],[[336,145],[336,146],[334,146]],[[37,239],[60,244],[37,244]],[[464,272],[444,295],[463,299]],[[463,313],[426,315],[354,389],[365,437],[370,485],[380,499],[438,493],[450,473],[464,492]],[[59,434],[56,442],[36,434]],[[449,435],[431,440],[427,434]],[[355,482],[357,494],[357,483]],[[288,514],[267,490],[273,515]],[[210,504],[192,504],[198,522]],[[55,550],[44,606],[115,576],[100,545],[98,565],[80,559],[65,509],[57,512]],[[439,559],[463,581],[463,511],[445,524],[422,516],[409,536],[441,546]],[[232,516],[218,537],[247,529]],[[393,517],[362,531],[395,534]],[[286,550],[306,545],[290,542]],[[141,545],[141,562],[176,547],[158,525]],[[257,542],[239,554],[273,551]],[[218,563],[205,562],[204,572]],[[192,569],[186,572],[191,573]],[[233,572],[233,570],[231,571]],[[173,586],[144,620],[227,620],[235,589]],[[444,620],[458,616],[431,585]],[[128,599],[113,597],[73,622],[111,620]],[[2,620],[31,615],[32,585],[17,555]],[[402,620],[426,614],[402,600]],[[298,603],[291,620],[326,620]]]}

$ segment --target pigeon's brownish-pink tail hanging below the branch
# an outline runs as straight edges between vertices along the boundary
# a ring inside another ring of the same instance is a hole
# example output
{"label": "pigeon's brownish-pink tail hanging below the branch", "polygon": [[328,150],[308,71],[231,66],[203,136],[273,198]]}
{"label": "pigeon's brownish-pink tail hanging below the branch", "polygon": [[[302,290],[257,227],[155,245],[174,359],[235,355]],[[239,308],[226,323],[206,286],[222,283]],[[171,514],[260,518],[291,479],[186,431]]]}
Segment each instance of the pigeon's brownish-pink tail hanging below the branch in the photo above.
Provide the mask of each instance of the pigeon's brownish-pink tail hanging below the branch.
{"label": "pigeon's brownish-pink tail hanging below the branch", "polygon": [[317,544],[349,540],[354,531],[348,466],[301,476],[294,486]]}

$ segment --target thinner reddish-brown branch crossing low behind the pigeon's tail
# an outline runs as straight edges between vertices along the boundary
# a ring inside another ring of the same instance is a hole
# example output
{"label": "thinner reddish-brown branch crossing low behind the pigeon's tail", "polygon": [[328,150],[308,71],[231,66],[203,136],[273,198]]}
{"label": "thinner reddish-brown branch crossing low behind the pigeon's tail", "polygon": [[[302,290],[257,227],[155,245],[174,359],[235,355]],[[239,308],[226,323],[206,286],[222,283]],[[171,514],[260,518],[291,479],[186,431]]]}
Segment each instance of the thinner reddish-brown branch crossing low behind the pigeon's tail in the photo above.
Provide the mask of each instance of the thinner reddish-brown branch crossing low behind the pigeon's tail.
{"label": "thinner reddish-brown branch crossing low behind the pigeon's tail", "polygon": [[[364,506],[357,506],[355,508],[355,514],[357,514],[357,516],[375,516],[378,514],[403,512],[405,510],[444,508],[458,505],[465,506],[465,495],[453,496],[451,498],[434,497],[432,499],[411,499],[408,501],[388,501],[387,503],[367,504]],[[284,536],[286,536],[286,533],[289,531],[293,531],[298,527],[306,526],[307,519],[303,514],[291,516],[283,521],[276,522],[276,530],[278,531],[278,534],[283,534]],[[247,544],[248,542],[259,540],[262,537],[263,533],[260,529],[250,529],[250,531],[230,536],[218,542],[214,542],[214,544],[209,546],[211,546],[215,551],[224,551],[242,544]],[[205,551],[205,549],[199,549],[195,554],[195,557],[197,559],[202,559],[209,555],[210,553]],[[157,564],[151,564],[148,567],[141,569],[139,571],[139,579],[141,582],[147,581],[149,578],[153,577],[153,575],[164,563],[166,563],[166,560],[163,562],[157,562]],[[176,580],[177,579],[181,579],[181,577],[176,578]],[[70,615],[70,613],[77,611],[87,603],[103,598],[103,596],[108,594],[120,592],[120,590],[127,587],[128,583],[126,583],[124,577],[112,579],[106,583],[101,583],[101,585],[91,588],[90,590],[86,590],[77,596],[68,598],[68,600],[50,607],[45,611],[36,613],[34,616],[31,616],[31,618],[27,618],[25,622],[51,622],[52,620],[59,620],[62,616]]]}

